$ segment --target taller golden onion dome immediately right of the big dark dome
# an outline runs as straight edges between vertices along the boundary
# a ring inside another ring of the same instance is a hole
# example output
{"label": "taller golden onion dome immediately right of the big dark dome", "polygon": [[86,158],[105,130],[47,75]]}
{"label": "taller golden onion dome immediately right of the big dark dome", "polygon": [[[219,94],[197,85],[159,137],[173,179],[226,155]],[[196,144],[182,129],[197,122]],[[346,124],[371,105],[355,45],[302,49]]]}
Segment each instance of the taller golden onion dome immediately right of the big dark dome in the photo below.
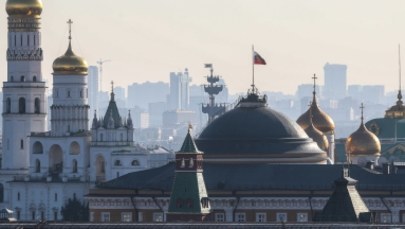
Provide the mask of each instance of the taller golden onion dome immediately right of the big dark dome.
{"label": "taller golden onion dome immediately right of the big dark dome", "polygon": [[310,126],[310,113],[312,113],[312,122],[316,129],[322,131],[323,133],[331,132],[335,129],[335,123],[333,122],[332,118],[318,107],[315,94],[311,107],[297,119],[298,125],[300,125],[304,130]]}

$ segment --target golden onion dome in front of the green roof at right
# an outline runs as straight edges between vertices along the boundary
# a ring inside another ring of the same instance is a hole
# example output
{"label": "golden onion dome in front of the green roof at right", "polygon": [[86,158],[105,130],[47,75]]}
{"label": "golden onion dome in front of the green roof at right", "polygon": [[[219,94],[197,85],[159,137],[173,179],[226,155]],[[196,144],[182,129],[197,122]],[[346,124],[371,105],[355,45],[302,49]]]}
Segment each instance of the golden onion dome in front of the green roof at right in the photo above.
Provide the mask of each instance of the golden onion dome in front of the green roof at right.
{"label": "golden onion dome in front of the green roof at right", "polygon": [[380,140],[363,124],[346,140],[346,153],[350,155],[380,155]]}

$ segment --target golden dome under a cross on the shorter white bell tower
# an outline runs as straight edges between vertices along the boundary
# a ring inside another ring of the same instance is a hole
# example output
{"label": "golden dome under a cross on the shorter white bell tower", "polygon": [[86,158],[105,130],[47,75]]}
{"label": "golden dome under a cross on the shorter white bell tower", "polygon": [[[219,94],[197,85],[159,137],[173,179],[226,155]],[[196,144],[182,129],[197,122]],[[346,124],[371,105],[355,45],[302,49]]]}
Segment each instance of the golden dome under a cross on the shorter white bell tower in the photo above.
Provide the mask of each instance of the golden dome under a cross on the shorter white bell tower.
{"label": "golden dome under a cross on the shorter white bell tower", "polygon": [[77,56],[69,47],[63,56],[56,58],[52,65],[53,73],[58,75],[87,75],[88,65],[85,59]]}

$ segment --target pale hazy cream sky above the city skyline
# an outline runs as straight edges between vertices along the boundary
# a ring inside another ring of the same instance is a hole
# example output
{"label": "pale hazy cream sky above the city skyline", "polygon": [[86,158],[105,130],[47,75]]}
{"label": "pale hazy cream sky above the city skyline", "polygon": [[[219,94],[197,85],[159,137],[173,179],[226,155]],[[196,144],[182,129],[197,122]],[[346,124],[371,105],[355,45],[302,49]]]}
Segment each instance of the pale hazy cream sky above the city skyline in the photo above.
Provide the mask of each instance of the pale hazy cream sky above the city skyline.
{"label": "pale hazy cream sky above the city skyline", "polygon": [[[6,0],[1,0],[3,6]],[[109,82],[169,80],[188,68],[201,84],[213,63],[231,93],[251,83],[251,45],[268,63],[256,67],[259,90],[295,93],[326,62],[348,65],[348,84],[398,88],[398,43],[405,54],[403,0],[43,0],[43,75],[67,48],[90,65],[100,58]],[[7,14],[0,12],[1,80],[6,79]],[[404,55],[405,61],[405,55]],[[323,84],[323,77],[320,77]],[[51,87],[51,85],[48,85]]]}

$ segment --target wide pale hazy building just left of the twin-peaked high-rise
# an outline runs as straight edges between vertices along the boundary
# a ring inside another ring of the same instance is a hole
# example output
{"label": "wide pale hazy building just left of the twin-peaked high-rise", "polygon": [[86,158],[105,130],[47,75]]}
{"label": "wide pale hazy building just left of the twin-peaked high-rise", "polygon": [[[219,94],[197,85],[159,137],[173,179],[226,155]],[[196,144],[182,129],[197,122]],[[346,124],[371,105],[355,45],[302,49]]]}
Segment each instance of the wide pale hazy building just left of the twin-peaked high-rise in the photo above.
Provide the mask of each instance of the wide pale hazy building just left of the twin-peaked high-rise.
{"label": "wide pale hazy building just left of the twin-peaked high-rise", "polygon": [[145,82],[128,85],[128,108],[139,106],[148,109],[149,103],[160,103],[167,100],[169,84],[163,82]]}

